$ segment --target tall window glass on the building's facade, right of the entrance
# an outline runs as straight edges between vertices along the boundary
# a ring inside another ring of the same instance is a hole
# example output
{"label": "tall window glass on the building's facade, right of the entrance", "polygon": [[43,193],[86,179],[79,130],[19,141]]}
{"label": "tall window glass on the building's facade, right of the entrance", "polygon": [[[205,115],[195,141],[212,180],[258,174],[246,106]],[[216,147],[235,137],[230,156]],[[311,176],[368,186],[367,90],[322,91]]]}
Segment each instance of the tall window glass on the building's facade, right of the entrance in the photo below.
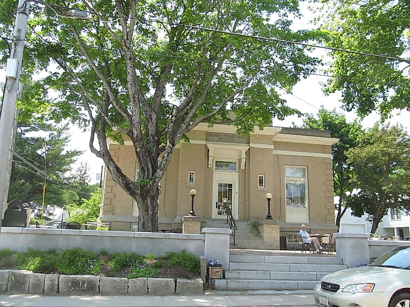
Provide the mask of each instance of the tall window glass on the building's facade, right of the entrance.
{"label": "tall window glass on the building's facade, right of the entrance", "polygon": [[286,208],[308,208],[307,183],[305,167],[285,168]]}

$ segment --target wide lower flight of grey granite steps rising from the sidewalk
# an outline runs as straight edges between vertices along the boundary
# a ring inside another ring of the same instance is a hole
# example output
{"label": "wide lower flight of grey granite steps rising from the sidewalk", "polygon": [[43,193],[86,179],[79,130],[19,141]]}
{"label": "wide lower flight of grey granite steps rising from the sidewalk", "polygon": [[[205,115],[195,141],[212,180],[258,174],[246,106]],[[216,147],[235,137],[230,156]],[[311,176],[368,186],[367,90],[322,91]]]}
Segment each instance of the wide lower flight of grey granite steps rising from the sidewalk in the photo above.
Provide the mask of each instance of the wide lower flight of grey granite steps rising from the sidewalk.
{"label": "wide lower flight of grey granite steps rising from the sidewalk", "polygon": [[225,279],[213,283],[217,290],[312,290],[325,275],[344,269],[333,255],[231,249]]}

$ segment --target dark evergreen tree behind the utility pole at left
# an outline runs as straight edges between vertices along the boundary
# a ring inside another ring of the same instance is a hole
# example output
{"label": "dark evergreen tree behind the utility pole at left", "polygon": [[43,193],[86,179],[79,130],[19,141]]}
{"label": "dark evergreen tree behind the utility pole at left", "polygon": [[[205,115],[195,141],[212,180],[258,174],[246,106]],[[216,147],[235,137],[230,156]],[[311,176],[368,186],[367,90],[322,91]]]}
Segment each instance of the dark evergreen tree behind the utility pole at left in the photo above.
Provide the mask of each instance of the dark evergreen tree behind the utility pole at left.
{"label": "dark evergreen tree behind the utility pole at left", "polygon": [[71,164],[82,152],[66,150],[69,142],[66,125],[44,128],[52,129],[45,137],[38,136],[38,130],[32,126],[20,124],[17,129],[15,151],[27,162],[14,156],[8,201],[28,200],[42,204],[44,183],[46,205],[64,206],[78,198],[68,189],[71,187],[69,173]]}

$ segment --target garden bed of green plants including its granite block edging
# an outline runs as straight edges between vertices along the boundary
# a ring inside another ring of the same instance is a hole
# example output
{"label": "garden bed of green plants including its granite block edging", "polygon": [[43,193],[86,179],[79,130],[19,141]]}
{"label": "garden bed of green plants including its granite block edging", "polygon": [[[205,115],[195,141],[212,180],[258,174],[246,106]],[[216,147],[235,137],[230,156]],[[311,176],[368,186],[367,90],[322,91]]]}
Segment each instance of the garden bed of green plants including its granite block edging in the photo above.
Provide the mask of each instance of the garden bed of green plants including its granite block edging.
{"label": "garden bed of green plants including its granite block edging", "polygon": [[[46,294],[195,294],[202,292],[200,261],[191,253],[164,257],[99,255],[72,248],[26,253],[0,250],[0,292]],[[109,278],[113,277],[113,278]]]}

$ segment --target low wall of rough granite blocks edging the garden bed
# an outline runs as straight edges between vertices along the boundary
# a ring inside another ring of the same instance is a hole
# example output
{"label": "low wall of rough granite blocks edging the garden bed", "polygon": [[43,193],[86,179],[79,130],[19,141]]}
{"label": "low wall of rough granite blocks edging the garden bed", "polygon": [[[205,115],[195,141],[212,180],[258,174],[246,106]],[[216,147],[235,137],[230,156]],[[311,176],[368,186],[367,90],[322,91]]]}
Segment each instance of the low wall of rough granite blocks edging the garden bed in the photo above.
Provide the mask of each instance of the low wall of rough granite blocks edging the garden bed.
{"label": "low wall of rough granite blocks edging the garden bed", "polygon": [[24,270],[0,270],[0,293],[49,295],[193,295],[203,293],[201,279],[116,278],[91,275],[38,274]]}

